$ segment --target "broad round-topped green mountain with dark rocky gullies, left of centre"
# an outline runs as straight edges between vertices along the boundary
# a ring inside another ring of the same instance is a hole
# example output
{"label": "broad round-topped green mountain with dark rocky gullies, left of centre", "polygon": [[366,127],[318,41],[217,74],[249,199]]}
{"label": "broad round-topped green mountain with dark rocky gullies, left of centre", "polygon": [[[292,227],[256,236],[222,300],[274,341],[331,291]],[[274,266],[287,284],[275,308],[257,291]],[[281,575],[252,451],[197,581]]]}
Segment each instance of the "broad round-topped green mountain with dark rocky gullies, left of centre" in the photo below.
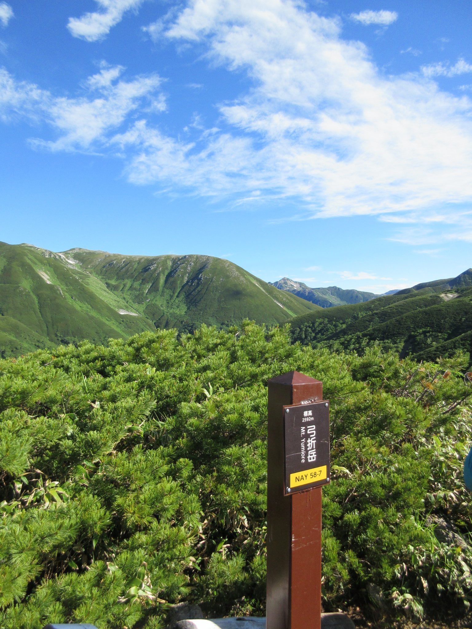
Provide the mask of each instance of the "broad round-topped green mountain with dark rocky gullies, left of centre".
{"label": "broad round-topped green mountain with dark rocky gullies, left of centre", "polygon": [[226,326],[244,318],[273,325],[317,309],[228,260],[208,255],[65,253],[158,328],[194,330],[201,323]]}

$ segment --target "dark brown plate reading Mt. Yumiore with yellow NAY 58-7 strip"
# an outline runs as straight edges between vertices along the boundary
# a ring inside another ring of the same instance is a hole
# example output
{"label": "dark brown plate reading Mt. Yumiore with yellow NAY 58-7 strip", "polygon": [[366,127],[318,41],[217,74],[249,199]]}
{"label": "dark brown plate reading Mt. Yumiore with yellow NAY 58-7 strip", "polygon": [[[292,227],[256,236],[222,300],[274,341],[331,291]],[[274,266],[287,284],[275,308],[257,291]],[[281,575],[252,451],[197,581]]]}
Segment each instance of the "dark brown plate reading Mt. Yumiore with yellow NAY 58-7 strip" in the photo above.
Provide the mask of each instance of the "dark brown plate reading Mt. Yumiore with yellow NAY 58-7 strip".
{"label": "dark brown plate reading Mt. Yumiore with yellow NAY 58-7 strip", "polygon": [[284,406],[284,494],[325,485],[330,479],[329,402]]}

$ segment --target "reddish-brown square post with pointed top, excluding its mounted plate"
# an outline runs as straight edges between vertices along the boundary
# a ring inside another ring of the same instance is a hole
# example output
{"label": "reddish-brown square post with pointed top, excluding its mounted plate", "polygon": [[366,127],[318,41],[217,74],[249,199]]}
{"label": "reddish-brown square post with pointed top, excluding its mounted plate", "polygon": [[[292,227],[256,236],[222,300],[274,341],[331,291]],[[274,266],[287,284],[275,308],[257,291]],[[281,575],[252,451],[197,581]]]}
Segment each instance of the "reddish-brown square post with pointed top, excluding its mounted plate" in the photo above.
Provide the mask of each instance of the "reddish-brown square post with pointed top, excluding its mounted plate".
{"label": "reddish-brown square post with pointed top, excluding its mounted plate", "polygon": [[320,629],[321,497],[286,495],[284,406],[323,399],[322,382],[291,371],[269,380],[267,428],[267,629]]}

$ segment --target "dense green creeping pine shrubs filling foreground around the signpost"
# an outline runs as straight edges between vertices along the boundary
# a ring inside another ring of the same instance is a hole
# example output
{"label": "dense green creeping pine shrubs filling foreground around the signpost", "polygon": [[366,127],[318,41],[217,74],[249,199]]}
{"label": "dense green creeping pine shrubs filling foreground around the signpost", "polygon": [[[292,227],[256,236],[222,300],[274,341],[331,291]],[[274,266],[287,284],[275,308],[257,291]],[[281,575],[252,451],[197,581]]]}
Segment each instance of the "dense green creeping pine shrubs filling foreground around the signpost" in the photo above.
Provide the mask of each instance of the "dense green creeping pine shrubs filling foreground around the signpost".
{"label": "dense green creeping pine shrubs filling foreground around the signpost", "polygon": [[267,380],[330,399],[323,604],[466,610],[463,358],[291,345],[245,321],[0,361],[0,626],[164,626],[172,604],[264,615]]}

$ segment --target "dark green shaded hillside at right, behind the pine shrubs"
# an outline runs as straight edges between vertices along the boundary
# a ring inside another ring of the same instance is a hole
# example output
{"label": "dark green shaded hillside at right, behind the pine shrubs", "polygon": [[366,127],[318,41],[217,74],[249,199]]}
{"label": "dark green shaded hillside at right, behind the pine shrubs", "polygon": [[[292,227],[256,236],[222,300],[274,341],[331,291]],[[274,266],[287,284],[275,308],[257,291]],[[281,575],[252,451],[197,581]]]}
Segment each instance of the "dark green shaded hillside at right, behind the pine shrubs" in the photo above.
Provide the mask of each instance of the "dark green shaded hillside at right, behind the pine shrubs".
{"label": "dark green shaded hillside at right, behind the pine shrubs", "polygon": [[293,340],[332,350],[362,352],[379,341],[415,359],[472,352],[472,269],[366,303],[298,316],[291,325]]}

